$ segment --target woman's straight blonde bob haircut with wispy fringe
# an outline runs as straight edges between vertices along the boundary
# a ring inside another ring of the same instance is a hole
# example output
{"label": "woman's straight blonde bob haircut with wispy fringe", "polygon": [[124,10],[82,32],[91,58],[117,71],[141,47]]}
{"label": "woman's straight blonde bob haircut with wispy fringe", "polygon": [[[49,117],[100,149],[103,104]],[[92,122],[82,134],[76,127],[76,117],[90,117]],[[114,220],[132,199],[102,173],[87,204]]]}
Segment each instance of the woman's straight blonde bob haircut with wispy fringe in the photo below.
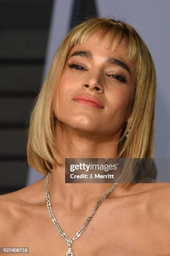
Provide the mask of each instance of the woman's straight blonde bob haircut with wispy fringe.
{"label": "woman's straight blonde bob haircut with wispy fringe", "polygon": [[[96,33],[97,32],[97,33]],[[47,77],[39,95],[33,102],[28,127],[28,164],[42,175],[48,174],[52,164],[62,164],[59,148],[55,141],[54,115],[55,97],[58,99],[58,85],[72,47],[84,44],[91,34],[96,33],[99,45],[108,33],[106,48],[116,49],[122,38],[126,42],[126,55],[135,69],[135,93],[131,111],[133,119],[129,136],[126,123],[118,141],[117,158],[152,158],[154,151],[154,107],[156,95],[156,73],[154,63],[146,44],[129,24],[112,18],[91,18],[74,27],[58,47]],[[121,182],[132,182],[132,171],[124,170]]]}

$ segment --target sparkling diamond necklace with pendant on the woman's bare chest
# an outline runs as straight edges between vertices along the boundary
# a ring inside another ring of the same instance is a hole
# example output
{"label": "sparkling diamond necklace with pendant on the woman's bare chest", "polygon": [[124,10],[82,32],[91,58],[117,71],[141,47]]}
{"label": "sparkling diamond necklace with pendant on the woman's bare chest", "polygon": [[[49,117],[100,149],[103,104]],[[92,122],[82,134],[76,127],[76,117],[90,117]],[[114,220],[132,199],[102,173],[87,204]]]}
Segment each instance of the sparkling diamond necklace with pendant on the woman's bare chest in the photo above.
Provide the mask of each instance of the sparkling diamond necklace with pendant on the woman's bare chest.
{"label": "sparkling diamond necklace with pendant on the woman's bare chest", "polygon": [[[52,170],[51,170],[52,172]],[[121,175],[118,177],[118,179],[116,180],[116,182],[114,183],[114,185],[109,189],[109,191],[103,196],[101,197],[101,199],[96,203],[93,211],[91,212],[91,215],[87,218],[87,220],[85,221],[85,223],[83,224],[83,226],[80,228],[80,230],[76,233],[76,235],[74,236],[74,238],[70,239],[66,233],[64,233],[64,231],[61,229],[60,225],[58,224],[56,217],[53,214],[53,210],[51,208],[51,201],[50,201],[50,194],[49,194],[49,189],[48,189],[48,181],[49,181],[49,175],[50,172],[48,172],[47,176],[46,176],[46,180],[45,180],[45,189],[46,189],[46,200],[47,200],[47,209],[48,209],[48,213],[50,215],[50,218],[53,222],[53,224],[55,225],[56,229],[58,230],[58,232],[60,233],[60,235],[66,240],[67,245],[69,246],[67,252],[66,252],[66,256],[67,255],[71,255],[73,256],[73,252],[71,251],[71,245],[74,242],[74,240],[76,240],[77,238],[79,238],[81,236],[81,234],[84,232],[84,230],[86,229],[87,225],[89,224],[92,216],[94,215],[94,213],[96,212],[96,210],[99,208],[99,206],[101,205],[101,203],[103,202],[104,199],[106,199],[108,197],[108,195],[112,192],[113,189],[115,189],[117,187],[118,181],[121,177]]]}

